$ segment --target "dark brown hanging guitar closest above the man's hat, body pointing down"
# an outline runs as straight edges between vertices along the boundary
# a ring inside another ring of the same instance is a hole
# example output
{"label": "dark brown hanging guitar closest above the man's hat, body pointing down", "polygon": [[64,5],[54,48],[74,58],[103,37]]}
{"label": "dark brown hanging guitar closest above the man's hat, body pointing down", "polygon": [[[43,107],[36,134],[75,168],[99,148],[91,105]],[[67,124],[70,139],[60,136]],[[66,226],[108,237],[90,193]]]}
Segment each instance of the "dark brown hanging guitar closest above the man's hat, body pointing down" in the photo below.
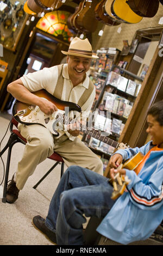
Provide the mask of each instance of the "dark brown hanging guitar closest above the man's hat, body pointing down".
{"label": "dark brown hanging guitar closest above the man's hat, body pointing down", "polygon": [[85,33],[96,31],[98,20],[95,16],[95,7],[97,4],[98,0],[85,0],[83,10],[77,16],[77,25]]}

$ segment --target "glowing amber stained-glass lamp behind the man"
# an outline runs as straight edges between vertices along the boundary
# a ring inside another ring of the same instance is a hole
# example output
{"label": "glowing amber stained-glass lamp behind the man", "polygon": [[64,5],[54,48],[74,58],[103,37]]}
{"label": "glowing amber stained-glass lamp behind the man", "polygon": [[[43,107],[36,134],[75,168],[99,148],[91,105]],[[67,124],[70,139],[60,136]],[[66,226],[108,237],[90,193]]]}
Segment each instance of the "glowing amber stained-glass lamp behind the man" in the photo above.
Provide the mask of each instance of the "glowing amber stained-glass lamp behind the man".
{"label": "glowing amber stained-glass lamp behind the man", "polygon": [[38,22],[36,27],[45,31],[60,40],[70,42],[73,34],[67,27],[67,19],[70,16],[68,11],[55,10],[45,14]]}

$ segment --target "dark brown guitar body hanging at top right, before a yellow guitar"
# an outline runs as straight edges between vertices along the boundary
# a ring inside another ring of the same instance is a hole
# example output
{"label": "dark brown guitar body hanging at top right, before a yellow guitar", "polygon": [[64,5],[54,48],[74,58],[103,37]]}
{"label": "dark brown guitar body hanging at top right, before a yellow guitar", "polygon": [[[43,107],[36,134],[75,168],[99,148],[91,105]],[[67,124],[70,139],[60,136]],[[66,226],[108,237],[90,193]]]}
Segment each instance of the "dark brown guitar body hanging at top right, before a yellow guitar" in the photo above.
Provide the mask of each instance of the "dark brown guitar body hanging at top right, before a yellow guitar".
{"label": "dark brown guitar body hanging at top right, before a yellow guitar", "polygon": [[128,0],[131,10],[142,17],[154,17],[159,9],[159,0]]}

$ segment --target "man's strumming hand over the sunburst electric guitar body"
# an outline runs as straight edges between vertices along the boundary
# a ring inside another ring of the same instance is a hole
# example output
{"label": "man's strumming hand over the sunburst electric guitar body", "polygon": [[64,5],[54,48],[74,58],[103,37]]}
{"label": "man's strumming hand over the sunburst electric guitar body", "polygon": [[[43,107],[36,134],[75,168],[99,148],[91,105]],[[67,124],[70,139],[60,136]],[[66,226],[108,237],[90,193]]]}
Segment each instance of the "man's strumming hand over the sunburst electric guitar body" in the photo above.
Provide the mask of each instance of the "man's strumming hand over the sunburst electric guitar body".
{"label": "man's strumming hand over the sunburst electric guitar body", "polygon": [[58,111],[57,106],[49,100],[40,98],[39,104],[37,104],[41,111],[47,115],[53,114],[54,111]]}

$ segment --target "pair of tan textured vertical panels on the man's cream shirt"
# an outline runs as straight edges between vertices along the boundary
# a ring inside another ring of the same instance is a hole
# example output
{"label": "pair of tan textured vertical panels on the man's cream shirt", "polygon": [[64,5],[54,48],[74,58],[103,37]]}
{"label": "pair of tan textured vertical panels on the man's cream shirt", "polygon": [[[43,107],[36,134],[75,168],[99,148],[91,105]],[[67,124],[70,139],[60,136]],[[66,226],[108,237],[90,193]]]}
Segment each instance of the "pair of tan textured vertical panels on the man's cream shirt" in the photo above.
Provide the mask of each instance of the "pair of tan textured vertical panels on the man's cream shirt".
{"label": "pair of tan textured vertical panels on the man's cream shirt", "polygon": [[[58,81],[55,86],[54,90],[54,96],[57,97],[58,99],[61,99],[62,96],[62,90],[64,88],[64,77],[62,76],[62,68],[64,64],[58,65]],[[84,103],[89,99],[91,93],[93,92],[93,89],[95,88],[93,82],[90,80],[89,82],[89,87],[85,88],[82,96],[78,100],[78,105],[82,107]]]}

